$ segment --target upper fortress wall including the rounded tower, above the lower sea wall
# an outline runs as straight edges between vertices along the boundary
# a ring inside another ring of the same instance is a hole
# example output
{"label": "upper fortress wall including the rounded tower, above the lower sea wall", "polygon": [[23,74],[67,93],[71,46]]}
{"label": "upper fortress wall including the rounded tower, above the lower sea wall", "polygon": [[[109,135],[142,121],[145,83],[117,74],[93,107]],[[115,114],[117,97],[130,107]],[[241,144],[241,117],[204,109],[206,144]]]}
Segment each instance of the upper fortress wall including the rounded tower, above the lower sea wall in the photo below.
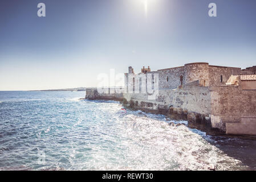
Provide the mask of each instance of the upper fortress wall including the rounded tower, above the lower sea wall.
{"label": "upper fortress wall including the rounded tower, above the lower sea wall", "polygon": [[[219,67],[208,63],[189,63],[182,67],[159,69],[149,73],[159,73],[159,89],[176,89],[181,85],[181,76],[183,85],[196,80],[204,80],[204,86],[222,86],[231,75],[240,75],[241,68]],[[143,73],[134,76],[137,77],[141,74]]]}

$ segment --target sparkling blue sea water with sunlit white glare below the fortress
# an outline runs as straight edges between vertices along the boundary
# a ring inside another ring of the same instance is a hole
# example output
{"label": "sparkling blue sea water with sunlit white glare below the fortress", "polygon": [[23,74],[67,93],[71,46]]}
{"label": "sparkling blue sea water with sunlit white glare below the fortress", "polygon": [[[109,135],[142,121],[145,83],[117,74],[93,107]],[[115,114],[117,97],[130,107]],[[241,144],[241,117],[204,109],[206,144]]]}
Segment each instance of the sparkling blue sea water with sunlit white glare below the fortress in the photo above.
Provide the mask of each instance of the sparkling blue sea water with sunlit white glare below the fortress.
{"label": "sparkling blue sea water with sunlit white glare below the fortress", "polygon": [[82,97],[0,92],[0,170],[256,169],[255,140],[212,137],[186,121]]}

